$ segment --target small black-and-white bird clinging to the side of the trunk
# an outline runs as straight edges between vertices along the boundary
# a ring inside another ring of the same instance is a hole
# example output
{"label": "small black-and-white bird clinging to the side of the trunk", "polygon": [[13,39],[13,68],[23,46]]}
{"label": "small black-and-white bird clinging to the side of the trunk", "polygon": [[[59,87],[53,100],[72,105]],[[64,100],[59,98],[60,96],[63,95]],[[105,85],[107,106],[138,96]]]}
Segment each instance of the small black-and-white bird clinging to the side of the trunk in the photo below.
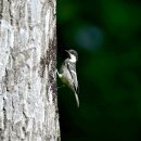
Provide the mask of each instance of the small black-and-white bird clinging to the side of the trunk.
{"label": "small black-and-white bird clinging to the side of the trunk", "polygon": [[62,82],[70,88],[75,93],[76,103],[79,107],[79,99],[78,99],[78,80],[76,74],[76,62],[78,60],[78,53],[75,50],[65,50],[68,53],[68,57],[62,63],[60,73],[56,70],[59,77]]}

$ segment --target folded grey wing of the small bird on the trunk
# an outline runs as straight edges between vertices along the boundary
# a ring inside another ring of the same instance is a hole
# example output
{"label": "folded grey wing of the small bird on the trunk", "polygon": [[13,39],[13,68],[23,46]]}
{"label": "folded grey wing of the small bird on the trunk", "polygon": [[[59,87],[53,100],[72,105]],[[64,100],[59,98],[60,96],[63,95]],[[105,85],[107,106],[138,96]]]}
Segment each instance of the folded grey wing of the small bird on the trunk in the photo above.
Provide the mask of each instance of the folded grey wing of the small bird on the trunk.
{"label": "folded grey wing of the small bird on the trunk", "polygon": [[67,64],[67,67],[68,67],[68,69],[69,69],[69,72],[70,72],[70,76],[72,76],[72,78],[73,78],[73,86],[74,86],[74,88],[75,88],[75,91],[76,92],[78,92],[78,80],[77,80],[77,74],[76,74],[76,66],[75,66],[75,64],[74,63],[68,63]]}

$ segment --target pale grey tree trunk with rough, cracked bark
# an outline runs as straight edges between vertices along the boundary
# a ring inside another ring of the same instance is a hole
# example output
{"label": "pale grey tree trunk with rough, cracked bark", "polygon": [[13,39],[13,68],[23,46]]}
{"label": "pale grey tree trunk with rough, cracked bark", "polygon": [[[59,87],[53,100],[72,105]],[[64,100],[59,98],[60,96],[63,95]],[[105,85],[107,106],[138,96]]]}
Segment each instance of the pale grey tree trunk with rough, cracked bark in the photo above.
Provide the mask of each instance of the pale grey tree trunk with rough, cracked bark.
{"label": "pale grey tree trunk with rough, cracked bark", "polygon": [[0,141],[60,140],[55,0],[0,0]]}

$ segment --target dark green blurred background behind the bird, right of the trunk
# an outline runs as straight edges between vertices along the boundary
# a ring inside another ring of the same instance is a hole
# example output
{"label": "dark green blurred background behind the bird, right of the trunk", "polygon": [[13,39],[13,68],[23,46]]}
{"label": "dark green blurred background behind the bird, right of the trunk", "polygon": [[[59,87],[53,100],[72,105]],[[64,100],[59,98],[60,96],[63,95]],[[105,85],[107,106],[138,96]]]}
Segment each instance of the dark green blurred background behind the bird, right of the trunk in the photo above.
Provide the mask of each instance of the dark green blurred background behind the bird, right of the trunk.
{"label": "dark green blurred background behind the bird, right of the trunk", "polygon": [[56,13],[57,68],[79,54],[80,107],[57,90],[62,141],[141,141],[141,1],[57,0]]}

